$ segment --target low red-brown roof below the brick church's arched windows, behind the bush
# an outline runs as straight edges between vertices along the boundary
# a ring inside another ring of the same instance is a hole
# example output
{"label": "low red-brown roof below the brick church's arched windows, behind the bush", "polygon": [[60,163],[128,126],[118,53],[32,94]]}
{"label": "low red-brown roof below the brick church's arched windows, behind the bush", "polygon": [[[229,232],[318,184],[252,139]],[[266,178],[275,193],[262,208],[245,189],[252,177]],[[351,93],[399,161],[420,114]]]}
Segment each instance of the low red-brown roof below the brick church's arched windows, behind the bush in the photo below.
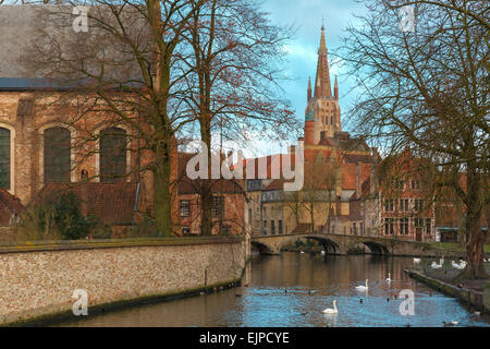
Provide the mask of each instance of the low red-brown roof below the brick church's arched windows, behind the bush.
{"label": "low red-brown roof below the brick church's arched windows, behind the bush", "polygon": [[73,192],[86,212],[83,214],[98,218],[101,222],[114,226],[131,225],[133,214],[138,208],[138,183],[48,183],[39,192],[34,203],[50,201],[60,193]]}

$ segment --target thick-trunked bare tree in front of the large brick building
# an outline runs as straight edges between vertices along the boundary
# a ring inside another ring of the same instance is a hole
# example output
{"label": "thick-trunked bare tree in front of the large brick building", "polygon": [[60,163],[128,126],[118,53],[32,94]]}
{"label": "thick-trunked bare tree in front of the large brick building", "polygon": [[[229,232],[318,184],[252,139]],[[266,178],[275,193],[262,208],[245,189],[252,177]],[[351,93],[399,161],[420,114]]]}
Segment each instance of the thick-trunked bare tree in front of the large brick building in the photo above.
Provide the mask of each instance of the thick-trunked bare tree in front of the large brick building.
{"label": "thick-trunked bare tree in front of the large brick building", "polygon": [[[87,115],[99,116],[99,127],[134,130],[138,142],[131,151],[147,154],[138,170],[152,173],[154,218],[164,236],[172,234],[176,133],[192,121],[179,112],[175,95],[183,93],[180,82],[186,72],[176,64],[175,51],[194,7],[203,2],[90,0],[40,9],[50,25],[39,28],[33,52],[26,55],[32,59],[24,62],[45,76],[63,80],[63,97],[69,106],[77,106],[70,122],[82,128],[82,143],[98,137],[84,122]],[[90,7],[87,33],[73,35],[73,5]]]}

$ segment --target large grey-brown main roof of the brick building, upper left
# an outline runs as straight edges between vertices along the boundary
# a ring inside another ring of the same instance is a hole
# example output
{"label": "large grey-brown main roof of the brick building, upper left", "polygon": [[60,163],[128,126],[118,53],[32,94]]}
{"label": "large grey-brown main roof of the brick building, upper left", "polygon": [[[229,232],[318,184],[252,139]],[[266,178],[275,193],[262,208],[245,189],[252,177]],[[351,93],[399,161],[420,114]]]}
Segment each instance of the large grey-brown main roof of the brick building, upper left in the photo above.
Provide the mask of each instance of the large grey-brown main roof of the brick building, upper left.
{"label": "large grey-brown main roof of the brick building, upper left", "polygon": [[[73,7],[65,4],[0,7],[0,79],[17,79],[17,81],[0,81],[3,89],[45,88],[46,82],[42,79],[62,77],[62,74],[63,77],[73,81],[88,76],[77,74],[76,68],[75,71],[70,71],[66,67],[49,67],[50,64],[42,61],[49,59],[50,53],[59,56],[60,51],[70,52],[71,64],[75,67],[83,64],[84,71],[90,74],[99,74],[103,64],[103,80],[114,86],[120,83],[126,86],[131,82],[133,84],[136,84],[136,81],[140,82],[134,55],[131,55],[131,49],[124,46],[127,43],[123,38],[115,38],[115,35],[108,35],[95,20],[88,22],[90,40],[87,41],[86,35],[78,35],[72,28],[72,12]],[[133,7],[125,7],[118,13],[121,21],[127,21],[124,23],[128,36],[139,37],[142,31],[149,29],[148,23]],[[107,7],[99,7],[98,11],[91,11],[90,15],[115,22],[113,13]],[[73,47],[79,49],[74,50]],[[95,52],[102,52],[103,60]],[[34,59],[30,62],[32,57]],[[48,87],[57,86],[49,84]]]}

